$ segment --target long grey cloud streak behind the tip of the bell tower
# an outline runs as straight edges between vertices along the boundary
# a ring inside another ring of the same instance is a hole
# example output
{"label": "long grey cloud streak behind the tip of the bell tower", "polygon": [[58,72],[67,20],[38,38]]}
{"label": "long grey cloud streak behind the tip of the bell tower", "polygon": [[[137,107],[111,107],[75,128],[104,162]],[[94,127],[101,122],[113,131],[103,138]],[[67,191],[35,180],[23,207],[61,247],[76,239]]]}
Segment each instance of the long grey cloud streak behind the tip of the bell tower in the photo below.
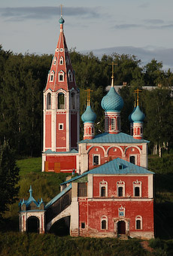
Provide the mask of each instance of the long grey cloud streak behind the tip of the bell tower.
{"label": "long grey cloud streak behind the tip of the bell tower", "polygon": [[[96,8],[98,10],[98,8]],[[6,21],[22,21],[22,20],[42,20],[57,17],[60,13],[58,7],[19,7],[19,8],[0,8],[0,16]],[[99,11],[93,8],[63,8],[65,16],[80,17],[99,17]],[[60,16],[60,15],[59,15]]]}

